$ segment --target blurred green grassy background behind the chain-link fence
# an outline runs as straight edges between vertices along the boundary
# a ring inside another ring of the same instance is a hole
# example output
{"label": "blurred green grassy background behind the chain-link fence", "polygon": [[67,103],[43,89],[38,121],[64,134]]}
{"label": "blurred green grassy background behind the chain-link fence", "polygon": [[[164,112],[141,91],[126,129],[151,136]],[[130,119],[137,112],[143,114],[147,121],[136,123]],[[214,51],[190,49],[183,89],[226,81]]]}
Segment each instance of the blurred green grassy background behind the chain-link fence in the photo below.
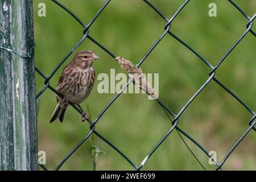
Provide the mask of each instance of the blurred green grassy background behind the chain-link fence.
{"label": "blurred green grassy background behind the chain-link fence", "polygon": [[[38,16],[38,3],[46,3],[46,17]],[[85,24],[88,24],[105,1],[60,1]],[[174,15],[183,1],[151,0],[168,18]],[[209,3],[217,5],[217,17],[209,17]],[[255,13],[256,1],[236,0],[249,16]],[[196,0],[188,3],[172,23],[171,31],[195,48],[212,65],[216,65],[226,51],[246,30],[248,20],[228,1]],[[90,28],[90,36],[112,51],[138,63],[148,49],[164,32],[164,20],[143,1],[112,1]],[[83,28],[68,13],[52,1],[34,1],[35,59],[36,67],[47,76],[61,59],[82,38]],[[255,29],[255,28],[254,28]],[[101,57],[94,68],[96,74],[125,73],[118,63],[96,44],[86,39],[76,50],[90,49]],[[51,79],[56,87],[65,65]],[[218,68],[216,78],[228,86],[251,109],[256,110],[255,37],[249,34]],[[144,73],[159,73],[159,99],[176,114],[207,80],[210,69],[191,51],[172,36],[166,37],[142,64]],[[83,104],[89,106],[92,120],[104,109],[115,94],[99,94],[96,81],[93,92]],[[36,75],[39,92],[44,80]],[[69,107],[63,123],[50,124],[55,109],[55,94],[47,89],[38,100],[39,150],[46,151],[47,165],[54,169],[57,164],[89,132],[89,124],[81,122],[81,115]],[[233,144],[247,129],[252,115],[230,94],[214,81],[200,93],[181,115],[179,126],[208,151],[217,152],[221,162]],[[161,107],[146,94],[122,94],[106,111],[96,125],[96,130],[110,140],[133,162],[139,165],[157,142],[167,133],[171,124]],[[97,139],[97,137],[96,137]],[[97,146],[105,151],[97,162],[98,170],[133,170],[134,168],[103,140]],[[222,169],[256,169],[256,135],[251,131],[236,148]],[[208,157],[187,138],[185,141],[207,169]],[[91,138],[71,156],[61,169],[91,170]],[[202,170],[174,130],[155,151],[145,170]]]}

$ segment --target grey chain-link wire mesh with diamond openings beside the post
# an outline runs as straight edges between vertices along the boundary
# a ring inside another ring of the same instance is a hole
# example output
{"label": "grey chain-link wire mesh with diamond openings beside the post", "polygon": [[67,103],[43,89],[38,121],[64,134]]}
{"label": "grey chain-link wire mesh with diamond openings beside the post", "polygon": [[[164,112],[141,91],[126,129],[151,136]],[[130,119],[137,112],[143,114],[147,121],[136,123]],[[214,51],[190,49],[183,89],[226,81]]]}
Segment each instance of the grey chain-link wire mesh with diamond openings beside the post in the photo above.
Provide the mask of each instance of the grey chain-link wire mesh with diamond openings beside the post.
{"label": "grey chain-link wire mesh with diamond openings beside the post", "polygon": [[[84,36],[82,36],[82,38],[79,40],[79,42],[71,49],[71,51],[69,51],[67,53],[67,55],[60,61],[60,63],[57,65],[57,67],[55,69],[53,69],[52,73],[49,76],[44,75],[44,73],[42,71],[40,71],[38,68],[36,68],[36,72],[39,73],[40,76],[42,76],[44,78],[44,84],[45,86],[42,88],[42,90],[40,90],[40,92],[37,94],[36,99],[38,99],[46,89],[50,89],[52,90],[52,92],[58,94],[60,97],[63,97],[63,95],[59,92],[57,92],[54,88],[52,88],[52,86],[49,84],[49,81],[51,80],[51,78],[55,75],[55,73],[57,72],[57,70],[61,67],[61,65],[68,59],[69,56],[72,55],[72,53],[75,51],[75,49],[77,49],[80,44],[82,42],[84,42],[84,40],[86,38],[88,38],[90,41],[92,41],[93,43],[95,43],[97,46],[99,46],[100,48],[102,48],[105,52],[107,52],[111,57],[113,57],[115,59],[115,55],[113,52],[109,51],[109,49],[107,49],[106,47],[104,47],[102,44],[100,44],[99,42],[97,42],[97,40],[93,39],[90,35],[89,35],[89,28],[92,26],[92,24],[96,21],[96,19],[98,18],[98,16],[102,13],[102,11],[104,11],[104,9],[109,5],[111,0],[108,0],[104,3],[104,5],[101,7],[100,10],[98,10],[97,14],[93,17],[93,19],[90,21],[90,23],[86,26],[81,19],[79,19],[75,13],[73,13],[71,10],[69,10],[67,7],[65,7],[63,4],[61,4],[59,1],[57,0],[52,0],[52,2],[56,3],[57,6],[61,7],[63,10],[65,10],[68,14],[70,14],[71,16],[73,16],[73,18],[79,23],[81,24],[82,28],[83,28],[83,32],[84,32]],[[172,131],[174,129],[177,130],[177,132],[182,135],[184,135],[187,139],[191,140],[191,142],[193,142],[197,147],[200,148],[200,150],[202,150],[209,158],[211,158],[212,156],[209,154],[209,152],[199,143],[197,142],[195,139],[193,139],[190,135],[188,135],[187,133],[185,133],[185,131],[183,131],[182,129],[180,129],[180,127],[178,126],[179,123],[179,118],[180,116],[183,114],[183,112],[187,109],[187,107],[193,102],[193,100],[200,94],[200,92],[203,91],[203,89],[209,84],[210,81],[214,81],[216,82],[218,85],[221,86],[221,88],[223,88],[224,90],[226,90],[226,92],[228,92],[231,96],[233,96],[238,102],[240,102],[240,104],[245,107],[249,113],[252,115],[250,121],[249,121],[249,127],[247,128],[247,130],[245,131],[245,133],[243,133],[243,135],[237,140],[236,143],[234,143],[234,145],[232,146],[232,148],[230,148],[230,150],[228,151],[228,153],[226,154],[225,158],[222,159],[222,161],[220,163],[218,163],[217,161],[214,161],[216,163],[216,170],[221,170],[221,167],[224,165],[224,163],[226,162],[226,160],[229,158],[229,156],[232,154],[232,152],[236,149],[236,147],[238,146],[238,144],[240,144],[240,142],[243,140],[243,138],[246,137],[246,135],[251,131],[254,130],[256,131],[254,125],[256,123],[256,114],[255,112],[245,104],[245,102],[243,102],[238,96],[236,96],[236,94],[234,94],[230,89],[228,89],[224,84],[222,84],[219,80],[217,80],[217,78],[215,77],[216,75],[216,70],[218,69],[218,67],[221,66],[221,64],[223,63],[223,61],[225,61],[226,57],[229,56],[229,54],[234,50],[234,48],[238,45],[238,43],[241,42],[241,40],[243,38],[245,38],[245,36],[248,34],[248,32],[250,32],[251,34],[255,35],[255,32],[252,30],[253,27],[253,20],[255,19],[256,14],[250,18],[250,16],[248,16],[245,11],[243,11],[236,3],[234,3],[232,0],[228,0],[231,5],[233,5],[234,7],[236,7],[236,9],[238,11],[240,11],[240,13],[245,16],[245,18],[247,18],[249,20],[249,22],[245,25],[246,27],[246,31],[243,32],[243,34],[240,36],[240,38],[238,38],[238,40],[233,44],[233,46],[225,53],[225,55],[220,59],[220,61],[218,61],[218,64],[213,66],[209,63],[209,61],[207,61],[206,59],[204,59],[203,56],[201,56],[197,51],[195,51],[195,49],[193,49],[191,46],[189,46],[187,43],[185,43],[183,40],[181,40],[180,38],[178,38],[173,32],[171,32],[171,26],[172,26],[172,21],[176,18],[176,16],[183,10],[183,8],[185,6],[188,6],[190,0],[186,0],[184,1],[181,6],[179,7],[179,9],[175,12],[175,14],[168,19],[166,16],[164,16],[164,14],[157,9],[154,5],[152,5],[152,3],[150,3],[147,0],[143,0],[144,3],[146,3],[146,5],[150,6],[151,9],[153,11],[155,11],[155,13],[159,14],[159,16],[161,18],[163,18],[166,21],[166,24],[163,25],[164,28],[164,32],[162,35],[160,35],[160,37],[158,38],[158,40],[156,40],[156,42],[152,45],[152,47],[146,52],[146,54],[143,56],[143,58],[138,62],[137,67],[140,67],[141,64],[146,60],[147,56],[150,55],[150,53],[152,51],[154,51],[155,47],[158,46],[159,42],[161,42],[161,40],[168,34],[171,35],[174,39],[176,39],[178,42],[180,42],[181,44],[183,44],[183,46],[187,47],[190,51],[192,51],[197,57],[199,57],[200,60],[203,61],[203,63],[205,63],[210,69],[210,73],[209,73],[209,78],[204,82],[204,84],[199,88],[199,90],[197,90],[197,92],[195,94],[193,94],[193,96],[187,101],[187,103],[183,106],[183,108],[179,111],[179,113],[175,114],[170,108],[168,108],[162,101],[160,100],[156,100],[156,102],[164,109],[164,111],[166,111],[167,114],[172,115],[172,117],[174,117],[172,119],[172,126],[170,128],[170,130],[168,130],[168,132],[164,135],[164,137],[155,145],[154,148],[152,148],[152,150],[148,153],[148,155],[142,160],[142,162],[137,166],[127,155],[125,155],[121,150],[119,150],[116,146],[114,146],[114,144],[112,144],[108,139],[106,139],[105,137],[103,137],[100,133],[97,132],[96,130],[96,123],[98,121],[100,121],[100,118],[102,117],[102,115],[105,114],[106,110],[109,109],[110,106],[112,106],[112,104],[115,102],[115,100],[117,100],[117,98],[122,94],[123,90],[125,90],[127,88],[127,86],[131,83],[131,80],[129,80],[127,82],[127,84],[122,88],[122,90],[120,90],[115,96],[114,98],[105,106],[105,108],[101,111],[100,114],[98,114],[98,116],[96,117],[96,119],[94,121],[91,121],[90,119],[87,119],[87,121],[90,123],[90,131],[88,134],[85,135],[85,137],[77,144],[76,147],[73,148],[72,151],[70,151],[67,156],[65,156],[65,158],[59,163],[59,165],[57,165],[57,167],[55,168],[55,170],[59,170],[61,168],[61,166],[63,166],[63,164],[68,160],[68,158],[90,137],[90,135],[92,135],[93,133],[96,134],[100,139],[102,139],[104,142],[106,142],[107,144],[109,144],[109,146],[111,146],[115,151],[117,151],[123,158],[125,158],[127,160],[128,163],[131,164],[131,166],[134,167],[134,169],[136,170],[140,170],[144,164],[147,162],[147,160],[150,158],[151,155],[154,154],[154,152],[157,150],[157,148],[164,142],[164,140],[172,133]],[[73,106],[80,114],[82,114],[82,111],[75,106],[72,102],[69,102],[69,104],[71,104],[71,106]],[[181,137],[181,135],[180,135]],[[182,137],[181,137],[182,138]],[[184,140],[183,140],[184,142]],[[192,151],[191,151],[192,152]],[[193,152],[192,152],[193,154]],[[194,155],[194,154],[193,154]],[[195,155],[194,155],[195,156]],[[195,156],[196,158],[196,156]],[[46,168],[46,166],[44,166],[43,164],[39,164],[44,170],[48,170]]]}

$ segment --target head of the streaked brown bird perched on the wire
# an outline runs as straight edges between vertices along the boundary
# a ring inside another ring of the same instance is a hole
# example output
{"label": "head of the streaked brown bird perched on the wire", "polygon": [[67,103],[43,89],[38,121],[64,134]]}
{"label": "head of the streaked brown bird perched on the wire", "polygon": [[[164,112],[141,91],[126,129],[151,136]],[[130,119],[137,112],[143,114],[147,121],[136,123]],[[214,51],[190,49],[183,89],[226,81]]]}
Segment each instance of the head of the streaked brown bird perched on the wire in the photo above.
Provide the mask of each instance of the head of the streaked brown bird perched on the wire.
{"label": "head of the streaked brown bird perched on the wire", "polygon": [[74,61],[76,64],[79,64],[81,67],[86,68],[90,67],[93,62],[97,59],[100,59],[94,52],[92,51],[79,51],[75,57]]}

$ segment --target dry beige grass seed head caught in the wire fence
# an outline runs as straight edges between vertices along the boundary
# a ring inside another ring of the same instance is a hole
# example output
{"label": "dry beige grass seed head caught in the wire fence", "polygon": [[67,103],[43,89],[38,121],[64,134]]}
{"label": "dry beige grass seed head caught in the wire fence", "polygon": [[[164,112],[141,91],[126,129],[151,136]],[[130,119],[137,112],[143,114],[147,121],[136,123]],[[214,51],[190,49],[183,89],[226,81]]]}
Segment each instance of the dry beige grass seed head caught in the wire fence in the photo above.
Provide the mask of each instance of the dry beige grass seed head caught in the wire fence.
{"label": "dry beige grass seed head caught in the wire fence", "polygon": [[144,92],[156,99],[155,89],[146,81],[146,76],[142,72],[141,68],[137,68],[131,61],[124,59],[123,57],[116,57],[121,68],[125,69],[129,73],[129,77],[133,80],[133,83],[142,89]]}

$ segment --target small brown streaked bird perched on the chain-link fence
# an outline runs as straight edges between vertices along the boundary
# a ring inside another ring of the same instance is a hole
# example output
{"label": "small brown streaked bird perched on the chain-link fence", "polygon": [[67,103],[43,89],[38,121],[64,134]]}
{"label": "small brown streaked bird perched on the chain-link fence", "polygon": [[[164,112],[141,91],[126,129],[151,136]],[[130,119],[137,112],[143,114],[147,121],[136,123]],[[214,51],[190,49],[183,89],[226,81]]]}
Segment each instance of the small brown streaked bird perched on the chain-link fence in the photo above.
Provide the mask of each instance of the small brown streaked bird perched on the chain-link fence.
{"label": "small brown streaked bird perched on the chain-link fence", "polygon": [[69,106],[68,101],[73,102],[82,110],[82,121],[88,118],[88,114],[85,113],[80,104],[88,98],[93,89],[95,72],[92,64],[99,58],[92,51],[79,51],[63,69],[56,90],[63,94],[64,99],[56,96],[57,106],[53,111],[50,123],[56,119],[63,122],[65,110]]}

